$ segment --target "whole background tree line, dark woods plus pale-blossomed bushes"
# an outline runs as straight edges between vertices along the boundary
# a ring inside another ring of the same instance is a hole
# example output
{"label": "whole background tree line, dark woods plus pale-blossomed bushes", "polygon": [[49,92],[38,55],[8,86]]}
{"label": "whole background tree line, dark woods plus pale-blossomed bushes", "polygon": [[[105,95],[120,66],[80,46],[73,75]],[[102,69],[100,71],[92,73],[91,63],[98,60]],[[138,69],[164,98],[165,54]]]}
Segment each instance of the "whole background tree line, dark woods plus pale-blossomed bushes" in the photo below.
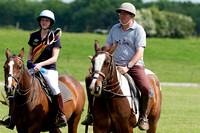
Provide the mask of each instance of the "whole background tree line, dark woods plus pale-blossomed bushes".
{"label": "whole background tree line, dark woods plus pale-blossomed bushes", "polygon": [[[42,10],[49,9],[56,17],[54,27],[60,27],[63,31],[109,31],[112,25],[119,22],[115,9],[123,2],[124,0],[75,0],[72,3],[63,3],[61,0],[1,0],[0,26],[35,30],[38,28],[37,16]],[[183,38],[200,33],[200,4],[168,0],[127,2],[135,5],[135,19],[149,37]]]}

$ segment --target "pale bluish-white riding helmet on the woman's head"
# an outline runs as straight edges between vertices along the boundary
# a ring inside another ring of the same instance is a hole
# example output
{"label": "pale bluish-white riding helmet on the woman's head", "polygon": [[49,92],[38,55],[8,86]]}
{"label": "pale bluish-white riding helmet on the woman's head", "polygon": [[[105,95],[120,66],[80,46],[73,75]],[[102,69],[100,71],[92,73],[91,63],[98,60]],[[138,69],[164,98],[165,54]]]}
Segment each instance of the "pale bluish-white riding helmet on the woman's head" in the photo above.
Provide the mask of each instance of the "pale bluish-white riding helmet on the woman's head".
{"label": "pale bluish-white riding helmet on the woman's head", "polygon": [[51,25],[53,25],[55,23],[55,16],[53,14],[52,11],[50,10],[44,10],[40,13],[40,15],[37,17],[37,21],[40,22],[41,17],[46,17],[49,18],[51,20]]}

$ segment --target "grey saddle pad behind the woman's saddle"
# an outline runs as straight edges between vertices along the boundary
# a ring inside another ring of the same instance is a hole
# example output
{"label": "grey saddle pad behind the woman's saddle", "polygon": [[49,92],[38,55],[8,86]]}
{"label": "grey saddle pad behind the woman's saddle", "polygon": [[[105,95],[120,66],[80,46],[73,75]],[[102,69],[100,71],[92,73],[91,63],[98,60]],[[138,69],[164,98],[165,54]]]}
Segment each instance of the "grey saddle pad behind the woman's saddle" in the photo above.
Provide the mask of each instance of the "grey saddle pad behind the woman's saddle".
{"label": "grey saddle pad behind the woman's saddle", "polygon": [[63,103],[72,100],[73,98],[72,92],[64,83],[62,83],[61,81],[58,81],[58,87],[61,91]]}

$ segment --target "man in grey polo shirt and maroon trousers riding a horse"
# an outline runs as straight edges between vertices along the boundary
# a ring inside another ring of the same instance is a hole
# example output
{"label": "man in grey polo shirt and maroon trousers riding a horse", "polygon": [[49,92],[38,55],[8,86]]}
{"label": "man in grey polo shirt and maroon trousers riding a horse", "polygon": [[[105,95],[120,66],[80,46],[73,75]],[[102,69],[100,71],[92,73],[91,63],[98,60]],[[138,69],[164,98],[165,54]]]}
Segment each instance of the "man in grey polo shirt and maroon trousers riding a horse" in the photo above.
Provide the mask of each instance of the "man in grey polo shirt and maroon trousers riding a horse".
{"label": "man in grey polo shirt and maroon trousers riding a horse", "polygon": [[[141,91],[141,115],[138,122],[140,130],[148,130],[149,123],[147,119],[147,108],[150,101],[150,85],[144,71],[143,53],[146,47],[146,33],[144,28],[139,25],[134,17],[136,15],[135,6],[131,3],[123,3],[116,9],[119,14],[119,22],[115,24],[106,39],[102,50],[110,48],[116,41],[118,46],[114,51],[115,64],[119,71],[128,73],[134,79],[136,85]],[[92,76],[88,75],[85,79],[88,94],[88,115],[81,123],[83,125],[92,125],[92,106],[94,96],[90,94],[89,85]]]}

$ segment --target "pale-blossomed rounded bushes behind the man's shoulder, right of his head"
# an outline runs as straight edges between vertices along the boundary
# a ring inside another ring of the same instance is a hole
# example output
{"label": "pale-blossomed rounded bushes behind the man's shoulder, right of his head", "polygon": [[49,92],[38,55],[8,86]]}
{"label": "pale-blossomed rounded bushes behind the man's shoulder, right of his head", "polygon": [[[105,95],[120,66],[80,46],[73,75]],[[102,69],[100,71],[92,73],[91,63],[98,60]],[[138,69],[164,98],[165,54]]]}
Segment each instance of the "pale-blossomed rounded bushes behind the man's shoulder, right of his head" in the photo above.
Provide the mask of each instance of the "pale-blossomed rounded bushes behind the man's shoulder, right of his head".
{"label": "pale-blossomed rounded bushes behind the man's shoulder, right of his head", "polygon": [[191,17],[159,11],[156,7],[138,10],[135,20],[144,27],[148,37],[189,37],[195,26]]}

